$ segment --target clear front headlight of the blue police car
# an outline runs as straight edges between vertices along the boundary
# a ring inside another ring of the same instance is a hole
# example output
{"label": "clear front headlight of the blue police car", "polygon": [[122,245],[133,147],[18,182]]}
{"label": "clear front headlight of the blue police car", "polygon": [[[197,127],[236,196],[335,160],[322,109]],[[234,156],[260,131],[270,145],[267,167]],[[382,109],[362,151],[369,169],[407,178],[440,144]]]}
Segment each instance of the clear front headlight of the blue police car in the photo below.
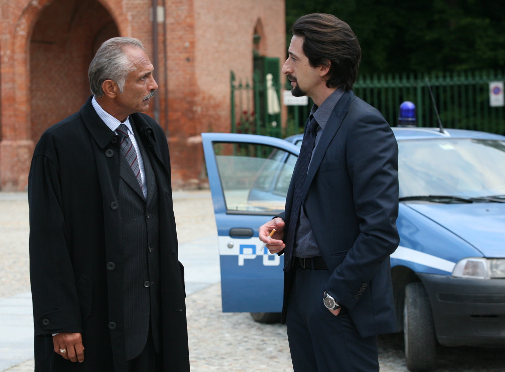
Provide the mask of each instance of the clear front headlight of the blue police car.
{"label": "clear front headlight of the blue police car", "polygon": [[463,258],[452,270],[452,276],[474,279],[505,278],[505,258]]}

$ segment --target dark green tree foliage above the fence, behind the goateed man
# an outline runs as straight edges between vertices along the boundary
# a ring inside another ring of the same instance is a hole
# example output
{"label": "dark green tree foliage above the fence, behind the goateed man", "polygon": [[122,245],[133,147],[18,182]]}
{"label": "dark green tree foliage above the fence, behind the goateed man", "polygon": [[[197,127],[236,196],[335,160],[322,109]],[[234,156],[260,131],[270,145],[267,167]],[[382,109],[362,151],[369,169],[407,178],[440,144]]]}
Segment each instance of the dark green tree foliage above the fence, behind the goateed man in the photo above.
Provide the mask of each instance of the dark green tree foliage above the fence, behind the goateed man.
{"label": "dark green tree foliage above the fence, behind the goateed man", "polygon": [[505,2],[497,0],[286,0],[293,22],[330,13],[360,40],[362,74],[505,67]]}

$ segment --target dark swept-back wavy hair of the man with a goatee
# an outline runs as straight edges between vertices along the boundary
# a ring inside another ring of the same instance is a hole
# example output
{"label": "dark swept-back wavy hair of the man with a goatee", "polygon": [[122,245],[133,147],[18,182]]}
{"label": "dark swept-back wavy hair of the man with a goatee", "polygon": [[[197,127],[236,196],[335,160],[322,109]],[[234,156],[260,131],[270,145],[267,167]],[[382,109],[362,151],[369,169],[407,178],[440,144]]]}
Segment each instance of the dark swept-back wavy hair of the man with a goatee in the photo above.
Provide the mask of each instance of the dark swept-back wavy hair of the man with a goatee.
{"label": "dark swept-back wavy hair of the man with a goatee", "polygon": [[327,66],[326,86],[351,90],[358,77],[361,47],[349,25],[331,14],[313,13],[296,20],[293,35],[304,37],[312,67]]}

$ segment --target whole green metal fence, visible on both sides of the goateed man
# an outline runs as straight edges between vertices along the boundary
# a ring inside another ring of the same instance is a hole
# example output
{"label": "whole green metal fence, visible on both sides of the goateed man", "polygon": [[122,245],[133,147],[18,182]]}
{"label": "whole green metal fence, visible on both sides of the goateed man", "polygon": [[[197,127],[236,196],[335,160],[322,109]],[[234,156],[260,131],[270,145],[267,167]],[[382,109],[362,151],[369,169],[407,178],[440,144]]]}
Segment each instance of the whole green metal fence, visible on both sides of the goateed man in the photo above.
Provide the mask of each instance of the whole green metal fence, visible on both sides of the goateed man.
{"label": "whole green metal fence, visible on both sides of the goateed man", "polygon": [[[403,101],[416,104],[417,125],[438,125],[428,86],[435,97],[440,119],[444,128],[481,130],[505,134],[505,112],[503,107],[490,107],[489,83],[504,81],[503,71],[461,71],[432,74],[373,74],[362,75],[354,85],[356,95],[377,108],[391,126],[398,119],[399,105]],[[281,94],[280,84],[275,88]],[[231,73],[231,131],[232,133],[258,133],[275,137],[286,137],[303,130],[312,106],[290,106],[283,125],[272,127],[273,118],[261,110],[265,84],[258,76],[254,82],[236,81]],[[289,89],[286,85],[285,89]]]}

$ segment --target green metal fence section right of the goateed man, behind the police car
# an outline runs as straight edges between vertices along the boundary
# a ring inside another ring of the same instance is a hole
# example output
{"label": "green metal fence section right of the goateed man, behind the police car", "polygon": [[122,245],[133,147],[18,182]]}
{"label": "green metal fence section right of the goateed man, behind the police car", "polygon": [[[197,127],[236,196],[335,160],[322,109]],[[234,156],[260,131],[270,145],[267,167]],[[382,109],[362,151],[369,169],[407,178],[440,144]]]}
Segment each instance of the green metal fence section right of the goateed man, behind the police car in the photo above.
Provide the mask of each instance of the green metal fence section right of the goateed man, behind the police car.
{"label": "green metal fence section right of the goateed man, behind the police car", "polygon": [[461,71],[432,74],[365,75],[354,85],[356,95],[377,108],[392,126],[403,101],[416,104],[420,127],[436,127],[428,90],[431,85],[444,128],[505,134],[503,107],[490,107],[489,83],[505,80],[503,71]]}

